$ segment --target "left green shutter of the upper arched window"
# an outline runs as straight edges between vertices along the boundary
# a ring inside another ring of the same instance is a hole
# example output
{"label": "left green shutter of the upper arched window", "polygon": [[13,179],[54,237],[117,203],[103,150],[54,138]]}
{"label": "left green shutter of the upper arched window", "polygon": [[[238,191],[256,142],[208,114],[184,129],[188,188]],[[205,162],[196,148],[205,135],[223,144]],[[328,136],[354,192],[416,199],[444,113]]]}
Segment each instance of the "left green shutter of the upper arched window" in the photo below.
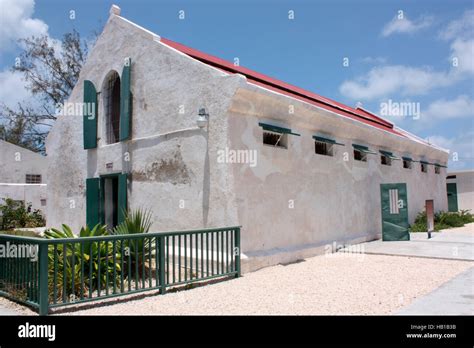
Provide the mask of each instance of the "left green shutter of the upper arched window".
{"label": "left green shutter of the upper arched window", "polygon": [[84,149],[94,149],[97,147],[97,91],[89,80],[84,80],[83,100]]}

